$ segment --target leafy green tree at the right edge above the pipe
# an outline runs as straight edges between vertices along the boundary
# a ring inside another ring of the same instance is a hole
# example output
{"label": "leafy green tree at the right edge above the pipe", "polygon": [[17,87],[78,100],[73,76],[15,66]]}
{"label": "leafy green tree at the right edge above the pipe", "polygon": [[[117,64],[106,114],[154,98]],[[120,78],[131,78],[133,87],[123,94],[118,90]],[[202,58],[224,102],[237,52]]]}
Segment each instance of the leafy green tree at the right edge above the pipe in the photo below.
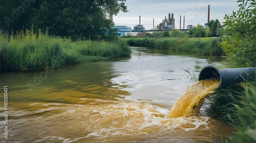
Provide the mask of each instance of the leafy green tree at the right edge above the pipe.
{"label": "leafy green tree at the right edge above the pipe", "polygon": [[231,37],[222,42],[222,49],[238,66],[256,66],[256,3],[255,0],[238,1],[239,11],[225,15],[224,26]]}

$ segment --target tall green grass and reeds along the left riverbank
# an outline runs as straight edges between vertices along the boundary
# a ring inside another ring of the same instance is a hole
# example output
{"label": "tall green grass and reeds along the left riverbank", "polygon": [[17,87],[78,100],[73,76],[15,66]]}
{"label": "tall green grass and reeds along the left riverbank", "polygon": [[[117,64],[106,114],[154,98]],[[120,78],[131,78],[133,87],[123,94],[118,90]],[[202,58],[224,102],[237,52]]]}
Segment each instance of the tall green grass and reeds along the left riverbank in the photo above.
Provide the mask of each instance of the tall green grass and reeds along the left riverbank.
{"label": "tall green grass and reeds along the left riverbank", "polygon": [[0,72],[59,68],[80,61],[130,56],[123,41],[76,41],[27,30],[17,35],[0,32]]}

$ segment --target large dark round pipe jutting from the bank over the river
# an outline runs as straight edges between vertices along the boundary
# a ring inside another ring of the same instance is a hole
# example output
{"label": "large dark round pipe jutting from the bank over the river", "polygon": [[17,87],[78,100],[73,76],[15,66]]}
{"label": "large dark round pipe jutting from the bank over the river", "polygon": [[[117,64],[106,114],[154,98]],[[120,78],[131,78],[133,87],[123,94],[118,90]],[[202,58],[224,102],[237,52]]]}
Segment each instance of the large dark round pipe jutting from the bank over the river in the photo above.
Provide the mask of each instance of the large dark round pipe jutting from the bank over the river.
{"label": "large dark round pipe jutting from the bank over the river", "polygon": [[218,69],[214,66],[205,66],[199,73],[198,80],[215,78],[220,80],[217,89],[224,85],[231,85],[248,80],[256,76],[256,67]]}

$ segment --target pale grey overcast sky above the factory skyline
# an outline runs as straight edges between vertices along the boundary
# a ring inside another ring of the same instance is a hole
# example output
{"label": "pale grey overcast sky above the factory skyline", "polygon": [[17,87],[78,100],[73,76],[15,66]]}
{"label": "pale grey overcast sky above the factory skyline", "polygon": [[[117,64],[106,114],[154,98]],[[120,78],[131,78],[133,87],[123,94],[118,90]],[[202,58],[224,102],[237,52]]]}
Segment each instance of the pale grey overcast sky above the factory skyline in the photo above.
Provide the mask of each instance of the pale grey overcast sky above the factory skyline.
{"label": "pale grey overcast sky above the factory skyline", "polygon": [[153,29],[153,18],[155,26],[168,17],[168,13],[174,13],[175,27],[183,29],[183,17],[185,16],[185,29],[187,25],[204,25],[207,22],[208,5],[210,5],[210,20],[219,19],[223,22],[225,14],[239,10],[237,0],[126,0],[129,12],[120,12],[114,16],[116,26],[133,27],[139,24],[146,30]]}

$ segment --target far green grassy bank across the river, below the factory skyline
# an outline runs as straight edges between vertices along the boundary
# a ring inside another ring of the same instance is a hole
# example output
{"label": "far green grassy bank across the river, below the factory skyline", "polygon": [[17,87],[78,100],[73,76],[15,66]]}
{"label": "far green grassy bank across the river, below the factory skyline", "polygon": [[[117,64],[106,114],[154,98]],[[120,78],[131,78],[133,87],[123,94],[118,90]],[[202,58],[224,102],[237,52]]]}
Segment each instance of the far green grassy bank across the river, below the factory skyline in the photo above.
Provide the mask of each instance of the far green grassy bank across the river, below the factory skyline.
{"label": "far green grassy bank across the river, below the factory skyline", "polygon": [[221,38],[187,38],[187,37],[164,37],[164,38],[120,38],[130,46],[148,47],[149,49],[173,50],[201,55],[223,55]]}

